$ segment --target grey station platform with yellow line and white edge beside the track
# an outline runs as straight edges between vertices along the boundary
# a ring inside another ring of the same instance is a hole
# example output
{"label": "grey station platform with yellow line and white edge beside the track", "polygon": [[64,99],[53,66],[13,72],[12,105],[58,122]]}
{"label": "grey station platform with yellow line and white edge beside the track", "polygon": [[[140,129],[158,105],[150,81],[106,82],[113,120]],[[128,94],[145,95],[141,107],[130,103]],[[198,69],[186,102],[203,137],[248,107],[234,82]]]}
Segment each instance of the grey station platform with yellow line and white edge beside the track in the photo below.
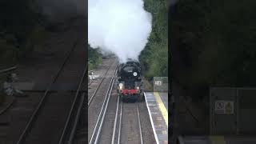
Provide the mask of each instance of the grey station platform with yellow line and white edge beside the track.
{"label": "grey station platform with yellow line and white edge beside the track", "polygon": [[146,107],[150,115],[150,122],[154,131],[154,138],[158,144],[168,143],[168,93],[144,93]]}

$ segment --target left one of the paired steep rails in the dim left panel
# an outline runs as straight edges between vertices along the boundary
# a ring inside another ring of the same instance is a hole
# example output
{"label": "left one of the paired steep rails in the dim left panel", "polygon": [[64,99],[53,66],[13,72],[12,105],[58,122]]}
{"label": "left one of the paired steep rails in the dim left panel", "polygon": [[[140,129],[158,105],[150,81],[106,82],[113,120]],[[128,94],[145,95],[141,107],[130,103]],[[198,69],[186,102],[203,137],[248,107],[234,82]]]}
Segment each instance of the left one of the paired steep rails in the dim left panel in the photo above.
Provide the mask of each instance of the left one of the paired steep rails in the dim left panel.
{"label": "left one of the paired steep rails in the dim left panel", "polygon": [[68,117],[67,117],[67,119],[66,119],[66,123],[65,123],[64,129],[62,130],[62,135],[61,135],[61,137],[60,137],[60,139],[59,139],[59,141],[58,141],[58,144],[62,144],[62,142],[63,142],[63,138],[64,138],[64,136],[65,136],[65,134],[66,134],[67,126],[68,126],[69,123],[70,123],[71,115],[73,114],[73,111],[74,111],[74,106],[75,106],[75,104],[77,103],[77,101],[79,100],[79,99],[78,99],[78,95],[79,95],[79,92],[80,92],[81,87],[82,87],[82,82],[84,81],[84,79],[85,79],[85,77],[86,77],[87,67],[88,67],[88,65],[86,65],[86,68],[85,68],[85,70],[83,71],[82,77],[81,77],[80,82],[79,82],[79,84],[78,84],[78,89],[77,89],[76,94],[75,94],[75,96],[74,96],[74,101],[73,101],[73,103],[72,103],[72,106],[71,106],[71,109],[70,109],[70,113],[69,113],[69,115],[68,115]]}

